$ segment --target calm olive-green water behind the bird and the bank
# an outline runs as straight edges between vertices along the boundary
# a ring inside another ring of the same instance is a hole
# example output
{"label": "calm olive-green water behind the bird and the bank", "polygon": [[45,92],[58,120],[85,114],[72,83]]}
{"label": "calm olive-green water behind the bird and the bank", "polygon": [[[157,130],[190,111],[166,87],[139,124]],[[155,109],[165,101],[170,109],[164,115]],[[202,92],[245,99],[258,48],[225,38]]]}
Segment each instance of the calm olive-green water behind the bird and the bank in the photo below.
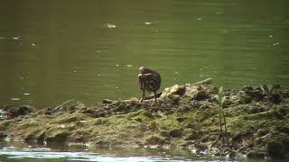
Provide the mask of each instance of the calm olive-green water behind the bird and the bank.
{"label": "calm olive-green water behind the bird and the bank", "polygon": [[[141,95],[163,85],[289,86],[288,0],[2,0],[0,104],[41,109]],[[110,23],[110,26],[107,25]],[[115,26],[114,26],[115,25]]]}

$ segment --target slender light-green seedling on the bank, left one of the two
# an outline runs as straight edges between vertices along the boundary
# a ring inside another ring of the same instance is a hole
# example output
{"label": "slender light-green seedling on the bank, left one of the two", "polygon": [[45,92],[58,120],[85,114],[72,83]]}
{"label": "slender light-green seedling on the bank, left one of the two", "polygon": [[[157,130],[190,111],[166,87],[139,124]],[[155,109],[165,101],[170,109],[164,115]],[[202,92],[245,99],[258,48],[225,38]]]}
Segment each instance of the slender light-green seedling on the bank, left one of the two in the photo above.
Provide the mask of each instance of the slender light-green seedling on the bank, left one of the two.
{"label": "slender light-green seedling on the bank, left one of the two", "polygon": [[225,135],[226,135],[226,141],[228,142],[228,131],[227,131],[227,123],[226,123],[226,117],[225,112],[223,108],[223,104],[226,100],[226,96],[223,94],[223,86],[219,87],[219,92],[217,95],[215,95],[215,98],[218,100],[219,104],[219,131],[220,131],[220,139],[222,140],[222,143],[224,144],[224,135],[223,135],[223,121],[225,126]]}

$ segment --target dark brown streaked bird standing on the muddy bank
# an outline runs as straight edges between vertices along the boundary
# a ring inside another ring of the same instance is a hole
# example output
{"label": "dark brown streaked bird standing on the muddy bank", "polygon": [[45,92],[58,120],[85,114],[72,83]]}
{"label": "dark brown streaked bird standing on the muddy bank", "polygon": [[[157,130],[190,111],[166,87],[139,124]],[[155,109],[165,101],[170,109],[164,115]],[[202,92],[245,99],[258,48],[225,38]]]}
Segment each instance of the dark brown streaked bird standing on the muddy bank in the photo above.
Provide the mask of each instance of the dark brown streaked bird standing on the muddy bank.
{"label": "dark brown streaked bird standing on the muddy bank", "polygon": [[156,102],[156,91],[160,89],[162,83],[162,77],[160,73],[146,67],[139,67],[139,72],[139,88],[143,91],[141,102],[144,100],[145,91],[149,93],[154,92],[154,102]]}

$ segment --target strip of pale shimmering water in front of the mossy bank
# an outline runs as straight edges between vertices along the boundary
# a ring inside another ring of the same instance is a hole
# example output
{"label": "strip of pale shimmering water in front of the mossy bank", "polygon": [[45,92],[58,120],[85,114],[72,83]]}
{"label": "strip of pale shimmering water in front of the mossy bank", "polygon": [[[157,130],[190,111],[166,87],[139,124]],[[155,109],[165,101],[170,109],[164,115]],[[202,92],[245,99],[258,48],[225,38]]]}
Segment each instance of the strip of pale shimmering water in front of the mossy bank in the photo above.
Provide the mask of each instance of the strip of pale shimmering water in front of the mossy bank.
{"label": "strip of pale shimmering water in front of the mossy bank", "polygon": [[200,157],[187,149],[171,148],[105,148],[88,146],[58,146],[46,148],[22,142],[0,142],[0,161],[198,161],[198,162],[286,162],[288,159],[229,159],[228,157]]}

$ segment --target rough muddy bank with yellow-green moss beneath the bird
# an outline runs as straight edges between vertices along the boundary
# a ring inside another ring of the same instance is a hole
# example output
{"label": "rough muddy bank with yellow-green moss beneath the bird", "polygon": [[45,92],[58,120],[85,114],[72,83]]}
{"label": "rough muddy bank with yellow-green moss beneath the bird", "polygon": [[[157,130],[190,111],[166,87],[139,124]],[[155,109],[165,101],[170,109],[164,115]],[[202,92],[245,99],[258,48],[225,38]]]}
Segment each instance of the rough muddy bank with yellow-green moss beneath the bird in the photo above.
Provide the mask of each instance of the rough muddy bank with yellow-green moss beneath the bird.
{"label": "rough muddy bank with yellow-green moss beneath the bird", "polygon": [[39,112],[32,106],[0,106],[0,139],[48,146],[180,147],[218,157],[286,157],[287,88],[276,85],[269,101],[260,87],[225,88],[226,144],[220,140],[217,93],[218,87],[205,82],[165,88],[157,103],[131,98],[87,106],[71,101]]}

